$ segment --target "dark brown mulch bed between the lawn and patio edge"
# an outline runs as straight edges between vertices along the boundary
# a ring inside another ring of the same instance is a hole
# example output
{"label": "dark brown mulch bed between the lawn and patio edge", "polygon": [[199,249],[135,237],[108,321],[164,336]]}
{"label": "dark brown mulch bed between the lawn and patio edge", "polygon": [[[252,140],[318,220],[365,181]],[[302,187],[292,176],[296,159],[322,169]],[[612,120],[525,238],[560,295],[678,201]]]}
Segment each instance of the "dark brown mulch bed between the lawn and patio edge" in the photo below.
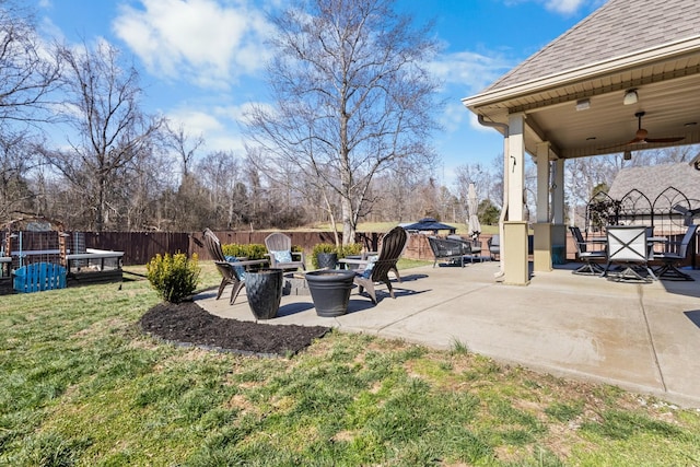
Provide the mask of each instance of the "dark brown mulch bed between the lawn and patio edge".
{"label": "dark brown mulch bed between the lawn and patio edge", "polygon": [[160,303],[141,317],[140,325],[143,331],[170,342],[260,357],[294,354],[330,330],[221,318],[196,302]]}

